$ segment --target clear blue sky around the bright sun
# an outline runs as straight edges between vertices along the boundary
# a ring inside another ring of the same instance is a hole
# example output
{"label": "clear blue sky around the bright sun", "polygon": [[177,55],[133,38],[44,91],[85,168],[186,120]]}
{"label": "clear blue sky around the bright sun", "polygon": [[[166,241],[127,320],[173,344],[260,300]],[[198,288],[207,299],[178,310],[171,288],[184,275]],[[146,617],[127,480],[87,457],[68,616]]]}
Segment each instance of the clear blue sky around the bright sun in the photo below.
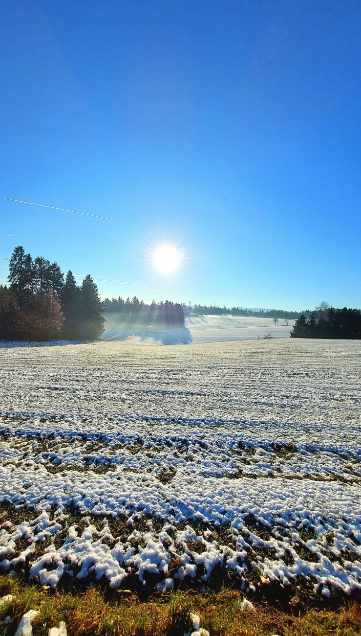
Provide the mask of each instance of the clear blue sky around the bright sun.
{"label": "clear blue sky around the bright sun", "polygon": [[360,307],[360,33],[358,0],[1,3],[0,257],[103,297]]}

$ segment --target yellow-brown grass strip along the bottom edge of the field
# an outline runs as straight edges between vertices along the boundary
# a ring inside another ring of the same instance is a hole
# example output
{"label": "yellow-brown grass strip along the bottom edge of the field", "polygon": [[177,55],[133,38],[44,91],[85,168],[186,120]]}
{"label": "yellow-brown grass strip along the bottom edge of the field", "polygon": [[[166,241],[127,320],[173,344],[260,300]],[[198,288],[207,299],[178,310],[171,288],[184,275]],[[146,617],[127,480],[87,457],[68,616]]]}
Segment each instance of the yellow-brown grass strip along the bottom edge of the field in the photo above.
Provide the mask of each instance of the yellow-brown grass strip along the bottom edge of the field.
{"label": "yellow-brown grass strip along the bottom edge of the field", "polygon": [[94,586],[84,594],[44,590],[11,576],[0,576],[0,595],[13,598],[0,607],[0,634],[12,636],[29,609],[39,614],[32,623],[34,636],[64,620],[69,636],[183,636],[191,629],[190,613],[201,618],[210,636],[353,636],[361,633],[361,605],[353,602],[336,611],[308,609],[302,615],[255,604],[255,612],[240,611],[240,593],[223,589],[202,595],[195,591],[170,593],[141,602],[127,593],[106,598]]}

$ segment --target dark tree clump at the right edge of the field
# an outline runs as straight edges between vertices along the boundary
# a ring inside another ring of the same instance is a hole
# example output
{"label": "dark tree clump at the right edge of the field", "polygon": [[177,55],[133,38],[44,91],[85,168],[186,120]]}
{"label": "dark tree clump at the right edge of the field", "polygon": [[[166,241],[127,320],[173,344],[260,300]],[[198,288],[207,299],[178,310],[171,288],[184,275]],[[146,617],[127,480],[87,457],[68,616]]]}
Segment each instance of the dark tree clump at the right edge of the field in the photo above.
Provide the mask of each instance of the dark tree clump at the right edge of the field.
{"label": "dark tree clump at the right edge of the field", "polygon": [[301,314],[290,333],[291,338],[361,338],[361,312],[359,309],[317,309],[309,318]]}

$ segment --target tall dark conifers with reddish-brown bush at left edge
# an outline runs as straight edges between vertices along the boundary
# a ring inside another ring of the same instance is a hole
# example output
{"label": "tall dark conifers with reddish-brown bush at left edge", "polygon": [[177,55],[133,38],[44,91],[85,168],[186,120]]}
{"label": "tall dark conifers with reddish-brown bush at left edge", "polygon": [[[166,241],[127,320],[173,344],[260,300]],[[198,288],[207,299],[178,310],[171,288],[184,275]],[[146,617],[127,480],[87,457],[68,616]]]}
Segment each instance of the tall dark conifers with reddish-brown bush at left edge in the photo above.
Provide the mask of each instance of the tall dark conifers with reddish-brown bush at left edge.
{"label": "tall dark conifers with reddish-brown bush at left edge", "polygon": [[71,270],[15,247],[9,286],[0,286],[0,340],[97,340],[104,331],[104,303],[88,274],[78,286]]}

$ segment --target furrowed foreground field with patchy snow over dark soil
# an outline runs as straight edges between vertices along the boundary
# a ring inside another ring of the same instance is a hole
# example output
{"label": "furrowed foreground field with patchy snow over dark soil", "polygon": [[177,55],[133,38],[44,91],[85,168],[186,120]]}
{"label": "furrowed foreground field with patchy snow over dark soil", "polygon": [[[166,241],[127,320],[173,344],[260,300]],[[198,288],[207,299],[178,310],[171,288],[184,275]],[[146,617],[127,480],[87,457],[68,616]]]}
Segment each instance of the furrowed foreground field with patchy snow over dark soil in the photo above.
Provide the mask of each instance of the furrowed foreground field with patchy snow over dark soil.
{"label": "furrowed foreground field with patchy snow over dark soil", "polygon": [[289,338],[0,349],[1,565],[51,586],[360,590],[360,354]]}

